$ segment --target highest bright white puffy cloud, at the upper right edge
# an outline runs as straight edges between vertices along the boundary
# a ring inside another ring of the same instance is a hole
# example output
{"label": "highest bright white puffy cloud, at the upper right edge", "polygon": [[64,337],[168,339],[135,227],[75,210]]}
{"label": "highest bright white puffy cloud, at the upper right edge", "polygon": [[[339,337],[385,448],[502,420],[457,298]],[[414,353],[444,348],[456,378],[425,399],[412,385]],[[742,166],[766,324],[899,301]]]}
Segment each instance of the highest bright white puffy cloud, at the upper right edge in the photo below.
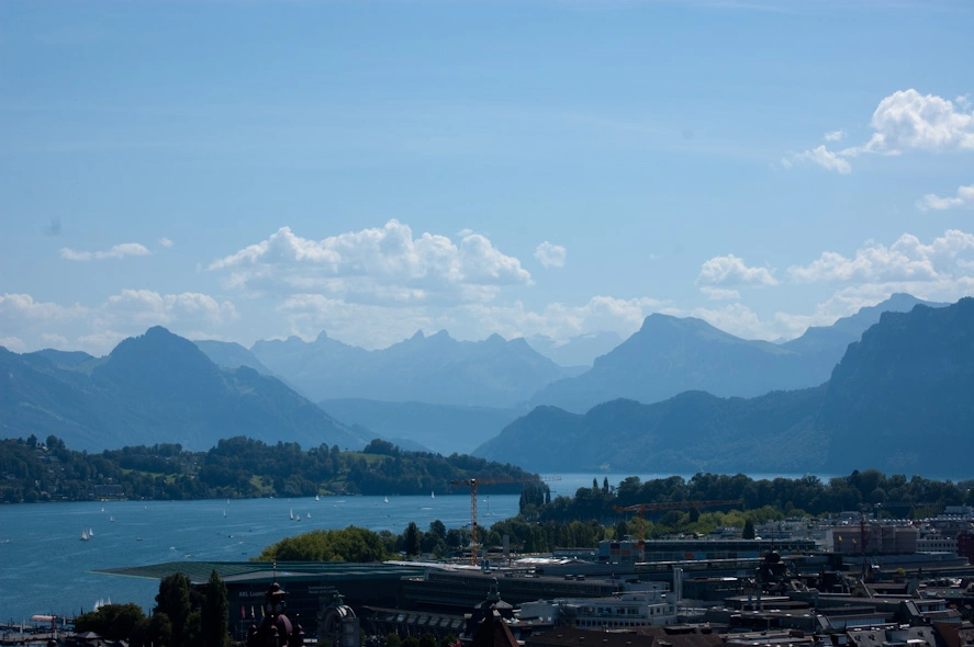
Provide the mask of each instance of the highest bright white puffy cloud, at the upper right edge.
{"label": "highest bright white puffy cloud, at the upper right edge", "polygon": [[[880,101],[870,127],[873,134],[865,144],[840,151],[831,151],[822,145],[785,156],[781,163],[792,168],[810,162],[830,171],[850,173],[852,167],[847,158],[864,154],[892,156],[914,150],[974,150],[974,112],[964,97],[952,102],[936,94],[920,94],[913,88],[897,90]],[[839,141],[844,136],[844,130],[833,130],[826,133],[825,139]]]}

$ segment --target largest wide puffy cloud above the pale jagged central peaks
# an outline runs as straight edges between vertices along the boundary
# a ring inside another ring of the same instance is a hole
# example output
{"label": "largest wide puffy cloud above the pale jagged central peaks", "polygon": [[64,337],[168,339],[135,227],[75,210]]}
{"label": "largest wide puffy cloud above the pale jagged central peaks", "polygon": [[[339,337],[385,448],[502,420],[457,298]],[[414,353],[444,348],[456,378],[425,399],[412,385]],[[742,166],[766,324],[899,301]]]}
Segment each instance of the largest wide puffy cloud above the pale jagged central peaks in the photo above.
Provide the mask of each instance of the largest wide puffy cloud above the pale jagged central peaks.
{"label": "largest wide puffy cloud above the pale jagged central peaks", "polygon": [[400,306],[485,302],[504,286],[531,284],[520,261],[503,254],[485,236],[463,231],[457,243],[441,235],[414,237],[394,219],[318,241],[281,227],[209,269],[228,271],[226,286],[255,294],[323,293]]}

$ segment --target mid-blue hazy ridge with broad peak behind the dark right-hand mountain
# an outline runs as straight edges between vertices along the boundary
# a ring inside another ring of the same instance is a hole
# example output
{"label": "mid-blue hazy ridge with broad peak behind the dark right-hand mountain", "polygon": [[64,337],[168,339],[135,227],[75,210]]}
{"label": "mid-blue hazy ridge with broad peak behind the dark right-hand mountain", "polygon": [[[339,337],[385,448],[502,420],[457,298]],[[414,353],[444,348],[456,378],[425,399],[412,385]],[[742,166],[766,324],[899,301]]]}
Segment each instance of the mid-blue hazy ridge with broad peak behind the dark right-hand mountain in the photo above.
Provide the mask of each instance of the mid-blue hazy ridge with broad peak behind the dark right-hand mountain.
{"label": "mid-blue hazy ridge with broad peak behind the dark right-hand mountain", "polygon": [[552,383],[530,404],[580,413],[616,398],[651,404],[687,390],[754,397],[817,386],[829,378],[849,343],[878,321],[881,313],[908,310],[921,303],[926,304],[895,294],[832,326],[809,328],[783,344],[740,339],[693,317],[653,314],[638,332],[597,357],[591,370]]}

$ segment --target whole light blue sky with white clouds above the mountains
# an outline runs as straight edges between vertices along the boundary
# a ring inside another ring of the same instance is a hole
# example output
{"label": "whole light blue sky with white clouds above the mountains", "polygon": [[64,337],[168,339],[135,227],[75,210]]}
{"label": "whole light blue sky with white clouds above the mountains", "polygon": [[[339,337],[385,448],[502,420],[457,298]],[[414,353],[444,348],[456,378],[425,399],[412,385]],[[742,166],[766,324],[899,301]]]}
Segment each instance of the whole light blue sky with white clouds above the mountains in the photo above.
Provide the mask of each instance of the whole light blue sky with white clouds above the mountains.
{"label": "whole light blue sky with white clouds above the mountains", "polygon": [[0,344],[974,294],[974,3],[0,3]]}

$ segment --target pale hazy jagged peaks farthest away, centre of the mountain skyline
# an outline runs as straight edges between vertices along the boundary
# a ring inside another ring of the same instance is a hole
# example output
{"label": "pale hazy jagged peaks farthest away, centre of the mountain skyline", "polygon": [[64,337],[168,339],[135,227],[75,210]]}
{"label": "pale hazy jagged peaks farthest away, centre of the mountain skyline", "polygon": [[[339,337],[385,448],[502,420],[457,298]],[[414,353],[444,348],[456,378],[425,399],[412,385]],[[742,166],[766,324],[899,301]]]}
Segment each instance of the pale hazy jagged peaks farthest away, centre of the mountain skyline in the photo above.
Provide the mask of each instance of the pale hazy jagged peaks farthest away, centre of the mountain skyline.
{"label": "pale hazy jagged peaks farthest away, centre of the mountain skyline", "polygon": [[315,401],[363,398],[433,405],[512,407],[581,368],[559,366],[524,339],[492,334],[457,341],[446,331],[367,351],[328,338],[258,341],[251,353]]}

